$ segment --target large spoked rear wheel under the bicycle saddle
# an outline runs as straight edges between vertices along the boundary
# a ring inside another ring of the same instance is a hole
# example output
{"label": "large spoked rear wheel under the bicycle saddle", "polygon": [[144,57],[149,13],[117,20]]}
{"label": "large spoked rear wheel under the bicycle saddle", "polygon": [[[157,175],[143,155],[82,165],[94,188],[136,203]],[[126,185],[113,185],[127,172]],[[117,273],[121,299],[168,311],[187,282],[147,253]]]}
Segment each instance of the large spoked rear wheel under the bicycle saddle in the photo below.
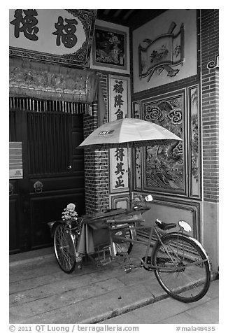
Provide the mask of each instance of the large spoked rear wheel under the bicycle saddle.
{"label": "large spoked rear wheel under the bicycle saddle", "polygon": [[162,288],[180,302],[196,302],[208,291],[211,273],[204,249],[187,236],[168,234],[157,241],[152,264]]}

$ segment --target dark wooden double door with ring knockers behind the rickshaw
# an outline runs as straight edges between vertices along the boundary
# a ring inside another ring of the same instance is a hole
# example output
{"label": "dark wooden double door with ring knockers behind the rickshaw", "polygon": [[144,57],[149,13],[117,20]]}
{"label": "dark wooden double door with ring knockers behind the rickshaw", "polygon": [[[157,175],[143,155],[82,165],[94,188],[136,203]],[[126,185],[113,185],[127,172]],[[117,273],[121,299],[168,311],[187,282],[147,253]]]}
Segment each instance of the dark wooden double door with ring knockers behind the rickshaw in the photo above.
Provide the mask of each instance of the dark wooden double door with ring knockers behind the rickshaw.
{"label": "dark wooden double door with ring knockers behind the rickshaw", "polygon": [[10,108],[10,141],[22,141],[23,154],[23,179],[10,180],[10,253],[50,246],[48,222],[70,202],[85,213],[83,115],[39,103]]}

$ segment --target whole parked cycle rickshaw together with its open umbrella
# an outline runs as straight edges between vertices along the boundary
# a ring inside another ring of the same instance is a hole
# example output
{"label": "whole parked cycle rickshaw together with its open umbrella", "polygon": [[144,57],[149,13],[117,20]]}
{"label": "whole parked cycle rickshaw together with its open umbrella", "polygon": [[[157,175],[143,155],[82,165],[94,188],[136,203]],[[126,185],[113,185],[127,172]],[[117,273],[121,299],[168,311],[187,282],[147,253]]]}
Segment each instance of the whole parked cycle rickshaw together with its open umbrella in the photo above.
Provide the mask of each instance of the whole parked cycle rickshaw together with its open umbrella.
{"label": "whole parked cycle rickshaw together with its open umbrella", "polygon": [[[177,226],[154,220],[148,239],[138,239],[136,232],[142,227],[142,214],[148,206],[132,205],[129,150],[138,146],[169,145],[173,141],[183,140],[153,122],[124,118],[101,125],[80,144],[80,148],[90,149],[127,148],[130,209],[85,215],[80,230],[76,223],[55,223],[55,255],[63,271],[71,273],[76,267],[81,268],[83,255],[92,257],[92,253],[97,253],[97,258],[92,259],[100,265],[122,260],[125,271],[141,267],[154,272],[162,288],[181,302],[195,302],[204,297],[211,282],[211,268],[201,243],[187,235],[191,232],[187,222],[180,220]],[[150,195],[145,197],[145,202],[150,199]],[[134,243],[145,246],[137,265],[130,256]]]}

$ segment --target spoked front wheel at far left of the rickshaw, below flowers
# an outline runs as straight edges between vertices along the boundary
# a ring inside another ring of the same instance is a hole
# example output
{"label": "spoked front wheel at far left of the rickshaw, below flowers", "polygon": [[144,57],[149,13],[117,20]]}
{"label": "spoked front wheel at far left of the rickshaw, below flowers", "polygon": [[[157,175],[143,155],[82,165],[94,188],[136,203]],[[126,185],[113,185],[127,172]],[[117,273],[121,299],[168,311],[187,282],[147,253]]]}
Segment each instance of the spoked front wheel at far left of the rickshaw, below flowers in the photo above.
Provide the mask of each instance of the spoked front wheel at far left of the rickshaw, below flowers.
{"label": "spoked front wheel at far left of the rickshaw, below flowers", "polygon": [[76,253],[71,234],[64,224],[57,225],[53,238],[55,257],[59,267],[65,273],[72,273],[76,267]]}

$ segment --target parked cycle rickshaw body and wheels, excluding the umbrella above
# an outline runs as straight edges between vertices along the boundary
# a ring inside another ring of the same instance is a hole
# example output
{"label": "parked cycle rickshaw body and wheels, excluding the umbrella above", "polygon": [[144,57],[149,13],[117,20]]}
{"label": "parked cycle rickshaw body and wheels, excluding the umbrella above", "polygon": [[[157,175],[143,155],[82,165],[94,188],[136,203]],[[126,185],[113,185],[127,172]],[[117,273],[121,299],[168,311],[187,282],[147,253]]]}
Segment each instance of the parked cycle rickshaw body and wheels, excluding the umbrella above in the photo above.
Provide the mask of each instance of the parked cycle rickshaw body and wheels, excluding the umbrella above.
{"label": "parked cycle rickshaw body and wheels, excluding the umbrella above", "polygon": [[[138,239],[136,230],[143,227],[142,214],[148,209],[136,206],[85,215],[80,219],[80,232],[76,222],[50,223],[59,267],[72,273],[76,268],[82,269],[84,257],[101,267],[115,260],[124,264],[126,272],[134,268],[154,272],[162,288],[181,302],[198,301],[211,283],[206,251],[199,241],[187,236],[191,227],[183,220],[178,222],[178,232],[169,232],[177,225],[157,219],[148,239]],[[137,264],[130,255],[134,243],[145,246],[145,253],[136,258]]]}

